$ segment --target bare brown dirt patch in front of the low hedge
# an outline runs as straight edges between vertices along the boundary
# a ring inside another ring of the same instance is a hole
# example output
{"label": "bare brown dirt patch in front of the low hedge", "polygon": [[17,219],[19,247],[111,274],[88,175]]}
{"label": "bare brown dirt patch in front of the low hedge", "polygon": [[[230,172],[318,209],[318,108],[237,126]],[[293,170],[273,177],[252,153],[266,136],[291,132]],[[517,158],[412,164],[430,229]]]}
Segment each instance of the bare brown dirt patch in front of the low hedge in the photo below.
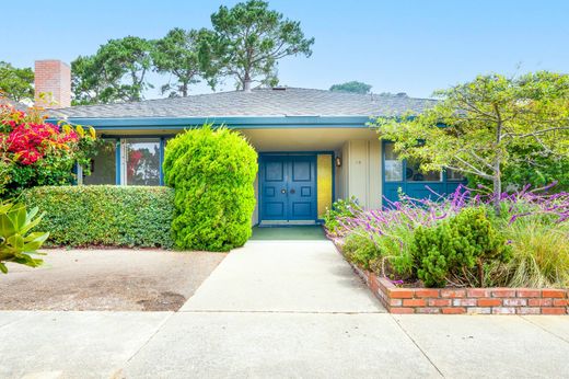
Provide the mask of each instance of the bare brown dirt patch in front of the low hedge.
{"label": "bare brown dirt patch in front of the low hedge", "polygon": [[0,310],[175,311],[225,254],[49,250],[38,268],[0,275]]}

